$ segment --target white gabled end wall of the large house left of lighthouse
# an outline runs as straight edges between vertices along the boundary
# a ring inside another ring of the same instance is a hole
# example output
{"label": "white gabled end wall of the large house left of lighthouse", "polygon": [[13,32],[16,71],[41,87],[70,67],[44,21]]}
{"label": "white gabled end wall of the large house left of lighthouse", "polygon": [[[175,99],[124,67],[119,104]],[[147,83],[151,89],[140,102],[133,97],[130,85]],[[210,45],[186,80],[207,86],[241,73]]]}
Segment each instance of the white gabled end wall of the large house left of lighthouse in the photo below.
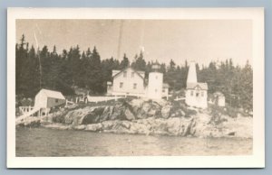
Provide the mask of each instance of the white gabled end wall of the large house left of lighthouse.
{"label": "white gabled end wall of the large house left of lighthouse", "polygon": [[[112,95],[127,95],[127,96],[144,96],[144,80],[134,72],[133,69],[126,69],[126,76],[124,71],[113,78]],[[133,74],[132,74],[133,73]],[[122,83],[122,87],[120,86]]]}

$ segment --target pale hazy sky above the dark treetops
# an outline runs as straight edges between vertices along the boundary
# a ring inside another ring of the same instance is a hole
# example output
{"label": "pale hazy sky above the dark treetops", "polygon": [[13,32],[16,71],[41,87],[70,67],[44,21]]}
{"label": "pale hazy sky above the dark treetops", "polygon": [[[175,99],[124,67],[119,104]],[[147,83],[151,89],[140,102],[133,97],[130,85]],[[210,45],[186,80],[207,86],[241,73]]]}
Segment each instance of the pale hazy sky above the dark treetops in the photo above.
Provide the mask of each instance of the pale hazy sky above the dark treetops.
{"label": "pale hazy sky above the dark treetops", "polygon": [[252,61],[250,20],[16,20],[16,41],[37,47],[53,45],[59,53],[77,44],[81,51],[96,46],[102,59],[130,60],[143,51],[145,60],[184,64],[195,60]]}

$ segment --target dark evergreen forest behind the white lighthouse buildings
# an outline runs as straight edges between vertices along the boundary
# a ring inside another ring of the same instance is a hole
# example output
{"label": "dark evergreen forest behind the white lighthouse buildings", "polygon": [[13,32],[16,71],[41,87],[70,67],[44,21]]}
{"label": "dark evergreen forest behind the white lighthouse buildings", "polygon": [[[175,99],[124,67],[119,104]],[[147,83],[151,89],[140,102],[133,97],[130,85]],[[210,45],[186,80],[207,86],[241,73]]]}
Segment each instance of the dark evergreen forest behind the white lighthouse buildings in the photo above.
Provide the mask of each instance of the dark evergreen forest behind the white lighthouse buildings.
{"label": "dark evergreen forest behind the white lighthouse buildings", "polygon": [[[63,95],[73,95],[74,88],[86,88],[92,94],[104,94],[107,81],[112,81],[112,69],[124,69],[131,66],[142,70],[148,78],[151,72],[151,60],[144,60],[143,52],[129,60],[126,54],[122,60],[102,59],[94,46],[81,51],[77,45],[70,50],[57,53],[56,47],[49,51],[47,46],[37,51],[29,46],[24,35],[15,46],[15,84],[16,95],[34,97],[41,88],[58,90]],[[159,63],[156,61],[156,63]],[[164,74],[164,82],[170,90],[186,88],[189,64],[177,65],[174,60],[168,64],[159,63]],[[208,66],[196,64],[199,82],[207,82],[209,94],[222,92],[230,106],[252,109],[253,70],[247,61],[244,67],[234,66],[231,59],[221,62],[210,61]]]}

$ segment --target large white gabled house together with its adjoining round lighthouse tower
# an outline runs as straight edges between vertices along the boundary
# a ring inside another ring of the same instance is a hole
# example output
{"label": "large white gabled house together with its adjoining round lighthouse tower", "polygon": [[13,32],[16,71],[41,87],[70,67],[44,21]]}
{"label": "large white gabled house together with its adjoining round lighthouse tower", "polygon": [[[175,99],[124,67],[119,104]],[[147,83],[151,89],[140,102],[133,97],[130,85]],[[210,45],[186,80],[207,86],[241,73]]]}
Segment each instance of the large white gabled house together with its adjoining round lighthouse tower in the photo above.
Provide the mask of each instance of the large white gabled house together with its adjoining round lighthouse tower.
{"label": "large white gabled house together with its adjoining round lighthouse tower", "polygon": [[112,82],[107,82],[109,96],[132,96],[160,99],[169,97],[169,85],[163,83],[163,74],[159,65],[153,65],[149,78],[144,71],[128,67],[122,70],[112,70]]}

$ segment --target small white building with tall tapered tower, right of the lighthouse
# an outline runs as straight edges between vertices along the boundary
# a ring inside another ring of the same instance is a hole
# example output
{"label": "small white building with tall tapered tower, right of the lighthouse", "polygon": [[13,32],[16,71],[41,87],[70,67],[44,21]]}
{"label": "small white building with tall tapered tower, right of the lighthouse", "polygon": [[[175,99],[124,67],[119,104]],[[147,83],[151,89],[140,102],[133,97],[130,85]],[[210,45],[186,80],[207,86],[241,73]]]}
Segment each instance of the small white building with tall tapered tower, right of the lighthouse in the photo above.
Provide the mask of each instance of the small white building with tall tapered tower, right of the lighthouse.
{"label": "small white building with tall tapered tower, right of the lighthouse", "polygon": [[189,64],[189,72],[186,84],[185,102],[188,106],[207,108],[207,83],[199,83],[197,78],[196,64],[194,61]]}

